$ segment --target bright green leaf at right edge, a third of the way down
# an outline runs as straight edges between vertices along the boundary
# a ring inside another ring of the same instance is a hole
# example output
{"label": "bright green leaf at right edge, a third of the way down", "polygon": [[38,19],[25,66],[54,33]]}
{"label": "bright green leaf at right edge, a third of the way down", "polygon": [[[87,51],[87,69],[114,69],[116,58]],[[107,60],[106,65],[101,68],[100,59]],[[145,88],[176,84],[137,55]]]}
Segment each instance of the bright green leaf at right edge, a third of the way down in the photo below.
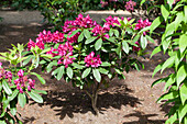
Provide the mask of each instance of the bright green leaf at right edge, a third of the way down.
{"label": "bright green leaf at right edge, a third of the way down", "polygon": [[183,53],[185,50],[185,48],[187,47],[187,35],[180,35],[179,37],[179,49],[180,53]]}

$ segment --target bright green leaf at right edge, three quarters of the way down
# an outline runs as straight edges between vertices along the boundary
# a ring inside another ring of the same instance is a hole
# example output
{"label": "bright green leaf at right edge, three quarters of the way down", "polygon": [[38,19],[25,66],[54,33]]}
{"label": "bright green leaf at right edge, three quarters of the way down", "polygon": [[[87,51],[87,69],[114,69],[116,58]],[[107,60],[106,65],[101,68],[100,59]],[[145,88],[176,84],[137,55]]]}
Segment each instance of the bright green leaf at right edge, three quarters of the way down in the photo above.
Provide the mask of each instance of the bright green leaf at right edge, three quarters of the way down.
{"label": "bright green leaf at right edge, three quarters of the way down", "polygon": [[185,104],[187,100],[187,83],[184,83],[179,90],[182,103]]}

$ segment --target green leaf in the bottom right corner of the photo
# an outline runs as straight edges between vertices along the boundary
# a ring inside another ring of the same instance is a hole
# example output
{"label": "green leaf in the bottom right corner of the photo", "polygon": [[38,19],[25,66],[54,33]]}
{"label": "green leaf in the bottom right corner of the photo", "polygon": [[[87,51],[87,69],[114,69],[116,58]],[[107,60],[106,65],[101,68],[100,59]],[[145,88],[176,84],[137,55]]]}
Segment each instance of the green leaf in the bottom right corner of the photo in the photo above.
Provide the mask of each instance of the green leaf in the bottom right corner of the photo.
{"label": "green leaf in the bottom right corner of the photo", "polygon": [[187,104],[180,104],[178,109],[178,117],[179,117],[179,124],[182,123],[182,120],[187,114]]}

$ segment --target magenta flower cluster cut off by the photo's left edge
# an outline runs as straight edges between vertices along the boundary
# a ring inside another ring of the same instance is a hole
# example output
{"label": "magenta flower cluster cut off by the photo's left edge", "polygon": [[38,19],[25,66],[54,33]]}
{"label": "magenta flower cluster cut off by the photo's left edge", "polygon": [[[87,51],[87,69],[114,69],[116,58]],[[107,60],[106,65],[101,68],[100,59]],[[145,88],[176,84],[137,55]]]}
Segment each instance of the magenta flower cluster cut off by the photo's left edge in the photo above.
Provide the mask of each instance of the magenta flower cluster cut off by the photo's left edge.
{"label": "magenta flower cluster cut off by the photo's left edge", "polygon": [[12,72],[4,70],[4,68],[2,68],[1,66],[2,66],[2,63],[0,63],[0,80],[4,78],[4,79],[8,79],[9,82],[11,82]]}

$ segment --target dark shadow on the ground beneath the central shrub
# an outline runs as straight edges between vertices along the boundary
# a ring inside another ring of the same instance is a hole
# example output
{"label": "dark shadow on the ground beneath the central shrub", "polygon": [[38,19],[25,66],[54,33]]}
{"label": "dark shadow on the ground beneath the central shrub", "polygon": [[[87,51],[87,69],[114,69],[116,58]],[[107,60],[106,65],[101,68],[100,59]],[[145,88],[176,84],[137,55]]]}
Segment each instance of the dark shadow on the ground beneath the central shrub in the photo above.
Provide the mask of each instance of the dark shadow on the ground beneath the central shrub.
{"label": "dark shadow on the ground beneath the central shrub", "polygon": [[[113,90],[110,90],[110,92],[101,90],[98,95],[97,105],[99,113],[102,114],[102,112],[107,111],[109,108],[120,110],[122,105],[134,108],[136,104],[141,104],[138,98],[129,94],[130,92],[133,91],[128,89],[124,84],[114,86]],[[90,98],[79,90],[67,92],[51,90],[46,95],[43,95],[43,98],[44,103],[38,105],[50,105],[56,112],[56,115],[59,115],[61,120],[66,115],[73,119],[74,113],[95,113],[91,109]],[[35,104],[35,102],[33,101],[31,104]]]}

